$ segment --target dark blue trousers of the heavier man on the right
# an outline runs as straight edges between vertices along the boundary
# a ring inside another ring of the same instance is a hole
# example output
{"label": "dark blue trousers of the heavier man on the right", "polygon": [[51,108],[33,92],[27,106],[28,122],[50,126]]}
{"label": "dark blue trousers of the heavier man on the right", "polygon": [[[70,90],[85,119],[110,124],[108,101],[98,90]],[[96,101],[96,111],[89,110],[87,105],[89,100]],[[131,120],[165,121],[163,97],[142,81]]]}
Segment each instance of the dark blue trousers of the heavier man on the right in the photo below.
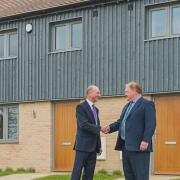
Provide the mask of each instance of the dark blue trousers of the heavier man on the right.
{"label": "dark blue trousers of the heavier man on the right", "polygon": [[149,180],[150,152],[127,151],[123,148],[122,157],[126,180]]}

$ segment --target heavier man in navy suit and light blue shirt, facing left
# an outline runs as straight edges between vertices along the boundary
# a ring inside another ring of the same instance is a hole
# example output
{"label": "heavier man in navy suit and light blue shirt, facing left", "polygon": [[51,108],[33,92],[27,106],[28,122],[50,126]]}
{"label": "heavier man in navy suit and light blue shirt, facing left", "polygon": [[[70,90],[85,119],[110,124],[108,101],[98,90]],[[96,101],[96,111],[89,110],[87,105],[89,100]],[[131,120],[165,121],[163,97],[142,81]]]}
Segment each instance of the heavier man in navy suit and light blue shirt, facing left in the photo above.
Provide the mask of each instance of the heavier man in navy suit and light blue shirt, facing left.
{"label": "heavier man in navy suit and light blue shirt, facing left", "polygon": [[156,127],[155,105],[142,97],[141,86],[126,84],[128,104],[120,119],[103,128],[104,133],[119,131],[115,150],[122,150],[126,180],[148,180],[152,136]]}

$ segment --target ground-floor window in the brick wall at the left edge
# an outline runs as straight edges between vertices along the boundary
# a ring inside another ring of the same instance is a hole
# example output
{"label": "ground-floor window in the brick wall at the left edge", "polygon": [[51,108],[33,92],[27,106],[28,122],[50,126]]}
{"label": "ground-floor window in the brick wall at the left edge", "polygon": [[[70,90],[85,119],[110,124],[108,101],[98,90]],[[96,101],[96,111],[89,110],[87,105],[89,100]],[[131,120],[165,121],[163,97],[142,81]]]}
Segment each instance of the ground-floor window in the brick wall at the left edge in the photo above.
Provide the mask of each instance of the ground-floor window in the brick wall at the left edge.
{"label": "ground-floor window in the brick wall at the left edge", "polygon": [[17,142],[18,108],[0,106],[0,142]]}

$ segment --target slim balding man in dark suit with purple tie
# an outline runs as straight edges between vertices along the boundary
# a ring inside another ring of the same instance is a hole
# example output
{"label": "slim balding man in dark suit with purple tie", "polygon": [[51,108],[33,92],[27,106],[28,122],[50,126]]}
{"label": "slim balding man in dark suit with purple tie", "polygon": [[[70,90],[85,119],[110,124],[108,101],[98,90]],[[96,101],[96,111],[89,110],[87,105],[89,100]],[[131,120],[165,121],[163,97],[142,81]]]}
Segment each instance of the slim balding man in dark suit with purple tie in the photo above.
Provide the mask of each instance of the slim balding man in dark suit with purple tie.
{"label": "slim balding man in dark suit with purple tie", "polygon": [[82,169],[82,180],[92,180],[96,156],[102,152],[99,111],[94,105],[101,97],[101,93],[94,85],[89,86],[86,93],[86,100],[76,108],[77,133],[74,146],[76,155],[71,180],[80,180]]}

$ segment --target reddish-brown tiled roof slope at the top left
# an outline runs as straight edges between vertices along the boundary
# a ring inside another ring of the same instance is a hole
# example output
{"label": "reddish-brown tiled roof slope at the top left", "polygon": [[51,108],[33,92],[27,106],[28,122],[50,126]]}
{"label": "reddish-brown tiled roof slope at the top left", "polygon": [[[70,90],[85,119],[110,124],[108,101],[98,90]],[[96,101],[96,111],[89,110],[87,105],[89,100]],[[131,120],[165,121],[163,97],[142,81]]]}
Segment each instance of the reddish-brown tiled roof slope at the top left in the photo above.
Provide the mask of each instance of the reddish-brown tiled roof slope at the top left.
{"label": "reddish-brown tiled roof slope at the top left", "polygon": [[78,4],[90,0],[0,0],[0,18]]}

